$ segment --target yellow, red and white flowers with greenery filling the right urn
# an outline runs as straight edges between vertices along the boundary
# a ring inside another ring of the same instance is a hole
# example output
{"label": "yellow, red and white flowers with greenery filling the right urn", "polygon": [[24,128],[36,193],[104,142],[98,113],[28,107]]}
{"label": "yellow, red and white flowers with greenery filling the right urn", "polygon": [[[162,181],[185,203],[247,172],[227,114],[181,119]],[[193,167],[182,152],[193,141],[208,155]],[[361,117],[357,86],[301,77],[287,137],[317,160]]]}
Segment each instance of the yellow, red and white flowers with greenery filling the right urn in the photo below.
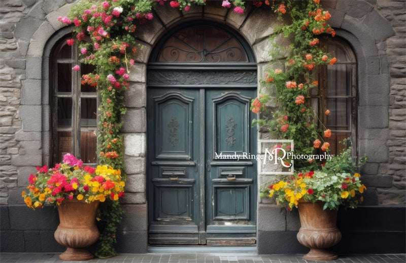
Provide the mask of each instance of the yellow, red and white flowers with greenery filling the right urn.
{"label": "yellow, red and white flowers with greenery filling the right urn", "polygon": [[[362,160],[364,162],[364,160]],[[300,199],[323,202],[323,209],[340,206],[356,208],[362,202],[366,187],[352,161],[351,147],[328,159],[320,170],[296,171],[261,192],[262,197],[274,197],[281,206],[291,210]]]}

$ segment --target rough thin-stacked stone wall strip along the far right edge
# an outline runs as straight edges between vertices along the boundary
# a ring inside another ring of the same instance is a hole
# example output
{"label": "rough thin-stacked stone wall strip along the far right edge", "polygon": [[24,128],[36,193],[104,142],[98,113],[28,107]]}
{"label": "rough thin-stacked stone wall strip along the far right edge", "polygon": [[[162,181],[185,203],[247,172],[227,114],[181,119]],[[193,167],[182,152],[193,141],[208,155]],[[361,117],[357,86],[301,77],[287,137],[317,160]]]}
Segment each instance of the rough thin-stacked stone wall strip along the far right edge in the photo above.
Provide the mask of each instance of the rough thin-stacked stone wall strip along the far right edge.
{"label": "rough thin-stacked stone wall strip along the far right edge", "polygon": [[393,204],[406,199],[406,2],[381,0],[375,7],[395,31],[378,47],[381,54],[386,51],[390,76],[389,158],[387,164],[379,164],[378,172],[392,176],[393,184],[392,188],[378,188],[377,192],[380,204]]}

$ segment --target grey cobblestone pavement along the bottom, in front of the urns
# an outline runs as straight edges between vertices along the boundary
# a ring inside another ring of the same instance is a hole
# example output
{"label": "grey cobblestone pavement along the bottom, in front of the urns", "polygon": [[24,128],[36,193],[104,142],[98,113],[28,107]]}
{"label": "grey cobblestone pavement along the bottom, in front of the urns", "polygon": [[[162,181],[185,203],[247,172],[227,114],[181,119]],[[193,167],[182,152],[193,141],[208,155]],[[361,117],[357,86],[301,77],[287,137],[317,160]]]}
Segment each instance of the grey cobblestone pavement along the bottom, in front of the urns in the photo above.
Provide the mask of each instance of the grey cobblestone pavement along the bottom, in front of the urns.
{"label": "grey cobblestone pavement along the bottom, in front of the urns", "polygon": [[148,253],[119,254],[115,257],[88,261],[62,261],[59,253],[1,253],[0,262],[36,263],[395,263],[406,262],[406,254],[340,255],[336,260],[304,260],[302,255],[254,255],[251,253]]}

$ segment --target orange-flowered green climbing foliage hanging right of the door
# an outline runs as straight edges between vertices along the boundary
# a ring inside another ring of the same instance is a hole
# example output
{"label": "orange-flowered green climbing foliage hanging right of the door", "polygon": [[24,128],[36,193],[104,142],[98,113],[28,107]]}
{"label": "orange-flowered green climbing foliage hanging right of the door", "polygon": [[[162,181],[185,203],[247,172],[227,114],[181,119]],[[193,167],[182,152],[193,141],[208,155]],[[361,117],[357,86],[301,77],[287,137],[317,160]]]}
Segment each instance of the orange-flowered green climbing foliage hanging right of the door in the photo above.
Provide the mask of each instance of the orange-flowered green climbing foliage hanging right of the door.
{"label": "orange-flowered green climbing foliage hanging right of the door", "polygon": [[[318,30],[335,33],[326,24],[329,14],[322,11],[321,6],[314,1],[282,1],[273,8],[280,20],[286,13],[291,21],[290,24],[278,27],[273,39],[283,32],[285,37],[293,39],[293,43],[287,49],[276,45],[272,49],[273,57],[288,54],[285,68],[268,70],[261,81],[264,92],[276,89],[278,108],[269,116],[266,107],[261,107],[260,118],[253,124],[260,125],[262,130],[269,130],[278,139],[293,139],[295,154],[312,154],[313,141],[318,138],[323,140],[320,123],[310,106],[310,91],[318,88],[313,69],[331,60],[331,56],[318,46],[319,39],[316,36]],[[308,161],[295,162],[295,168],[309,166],[312,164]]]}

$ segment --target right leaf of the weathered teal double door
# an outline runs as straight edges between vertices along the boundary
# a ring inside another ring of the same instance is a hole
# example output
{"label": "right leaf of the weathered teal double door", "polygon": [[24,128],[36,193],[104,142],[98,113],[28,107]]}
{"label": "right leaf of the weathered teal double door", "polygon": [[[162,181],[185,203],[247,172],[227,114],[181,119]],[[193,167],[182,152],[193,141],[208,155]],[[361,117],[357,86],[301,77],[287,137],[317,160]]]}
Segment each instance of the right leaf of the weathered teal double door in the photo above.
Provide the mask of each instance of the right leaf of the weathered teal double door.
{"label": "right leaf of the weathered teal double door", "polygon": [[[226,233],[251,242],[255,231],[256,161],[244,159],[255,153],[254,115],[250,102],[255,91],[210,90],[206,93],[206,222],[208,241]],[[245,232],[241,232],[241,231]]]}

